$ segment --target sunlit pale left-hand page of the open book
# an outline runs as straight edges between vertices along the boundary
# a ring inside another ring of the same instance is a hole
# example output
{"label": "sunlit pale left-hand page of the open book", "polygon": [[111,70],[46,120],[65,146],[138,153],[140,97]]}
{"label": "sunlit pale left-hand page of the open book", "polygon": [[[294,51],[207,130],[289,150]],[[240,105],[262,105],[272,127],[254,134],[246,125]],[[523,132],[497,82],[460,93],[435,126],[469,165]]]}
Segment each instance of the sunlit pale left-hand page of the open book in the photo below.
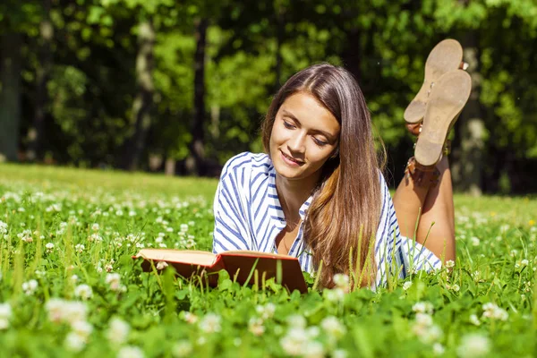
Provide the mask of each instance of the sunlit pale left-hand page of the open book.
{"label": "sunlit pale left-hand page of the open book", "polygon": [[183,262],[201,266],[212,266],[217,259],[217,256],[209,251],[173,249],[141,249],[136,257],[146,260]]}

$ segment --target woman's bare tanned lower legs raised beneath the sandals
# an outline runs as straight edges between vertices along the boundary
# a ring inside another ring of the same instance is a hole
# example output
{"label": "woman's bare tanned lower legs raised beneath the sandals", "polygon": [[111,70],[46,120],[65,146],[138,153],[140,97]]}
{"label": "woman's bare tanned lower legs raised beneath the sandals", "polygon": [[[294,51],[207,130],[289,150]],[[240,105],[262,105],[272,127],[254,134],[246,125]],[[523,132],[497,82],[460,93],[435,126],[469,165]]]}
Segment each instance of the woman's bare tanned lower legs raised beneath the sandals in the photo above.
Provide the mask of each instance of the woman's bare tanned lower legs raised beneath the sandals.
{"label": "woman's bare tanned lower legs raised beneath the sandals", "polygon": [[404,178],[397,187],[394,207],[401,234],[415,238],[445,262],[455,260],[453,188],[447,158],[436,167],[440,172],[436,186],[420,186]]}

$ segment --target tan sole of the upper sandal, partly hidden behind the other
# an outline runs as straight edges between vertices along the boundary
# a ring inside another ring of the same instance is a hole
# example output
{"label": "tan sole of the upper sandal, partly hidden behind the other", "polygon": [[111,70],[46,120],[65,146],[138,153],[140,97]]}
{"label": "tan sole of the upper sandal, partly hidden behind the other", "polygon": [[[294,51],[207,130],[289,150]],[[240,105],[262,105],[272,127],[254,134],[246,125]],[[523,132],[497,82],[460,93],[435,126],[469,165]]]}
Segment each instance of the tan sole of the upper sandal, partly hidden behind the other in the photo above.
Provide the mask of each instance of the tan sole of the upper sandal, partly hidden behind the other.
{"label": "tan sole of the upper sandal, partly hidden behind the other", "polygon": [[422,88],[405,109],[403,117],[411,124],[418,123],[425,115],[425,108],[430,96],[431,85],[449,71],[459,68],[463,61],[463,47],[455,39],[447,38],[440,41],[427,57],[425,62],[425,78]]}

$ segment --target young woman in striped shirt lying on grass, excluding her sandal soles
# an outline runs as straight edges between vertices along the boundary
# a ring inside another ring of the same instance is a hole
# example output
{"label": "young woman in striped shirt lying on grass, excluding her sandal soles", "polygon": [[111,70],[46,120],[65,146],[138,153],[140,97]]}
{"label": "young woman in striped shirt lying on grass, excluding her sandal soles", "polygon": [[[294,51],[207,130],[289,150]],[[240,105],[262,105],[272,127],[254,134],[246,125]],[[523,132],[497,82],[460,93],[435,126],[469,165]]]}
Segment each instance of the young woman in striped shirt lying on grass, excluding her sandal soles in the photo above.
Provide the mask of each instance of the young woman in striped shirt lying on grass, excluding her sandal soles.
{"label": "young woman in striped shirt lying on grass, excluding her sandal soles", "polygon": [[394,208],[370,113],[344,68],[317,64],[291,77],[268,108],[262,141],[266,154],[239,154],[223,169],[214,252],[291,255],[326,287],[337,273],[356,286],[375,287],[389,275],[405,277],[410,270],[440,268],[440,259],[454,260],[447,158],[432,166],[411,161]]}

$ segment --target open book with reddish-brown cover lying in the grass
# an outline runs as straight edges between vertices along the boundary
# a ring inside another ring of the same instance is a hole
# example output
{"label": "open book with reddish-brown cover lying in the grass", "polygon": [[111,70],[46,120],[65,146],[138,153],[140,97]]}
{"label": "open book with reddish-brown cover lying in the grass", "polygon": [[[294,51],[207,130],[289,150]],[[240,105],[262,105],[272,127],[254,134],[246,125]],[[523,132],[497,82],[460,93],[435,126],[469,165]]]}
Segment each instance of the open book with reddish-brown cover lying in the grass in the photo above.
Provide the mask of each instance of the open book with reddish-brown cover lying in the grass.
{"label": "open book with reddish-brown cover lying in the grass", "polygon": [[[206,275],[210,286],[217,286],[216,273],[225,269],[232,280],[240,284],[248,281],[254,283],[257,272],[259,282],[265,279],[277,277],[277,270],[281,269],[281,285],[289,291],[299,290],[301,293],[308,292],[303,272],[297,258],[277,253],[259,251],[225,251],[214,254],[208,251],[170,250],[170,249],[142,249],[134,259],[144,259],[141,267],[150,271],[151,261],[157,267],[158,261],[165,261],[172,265],[177,274],[183,277],[192,275]],[[278,263],[279,262],[279,263]],[[279,268],[278,268],[279,266]]]}

